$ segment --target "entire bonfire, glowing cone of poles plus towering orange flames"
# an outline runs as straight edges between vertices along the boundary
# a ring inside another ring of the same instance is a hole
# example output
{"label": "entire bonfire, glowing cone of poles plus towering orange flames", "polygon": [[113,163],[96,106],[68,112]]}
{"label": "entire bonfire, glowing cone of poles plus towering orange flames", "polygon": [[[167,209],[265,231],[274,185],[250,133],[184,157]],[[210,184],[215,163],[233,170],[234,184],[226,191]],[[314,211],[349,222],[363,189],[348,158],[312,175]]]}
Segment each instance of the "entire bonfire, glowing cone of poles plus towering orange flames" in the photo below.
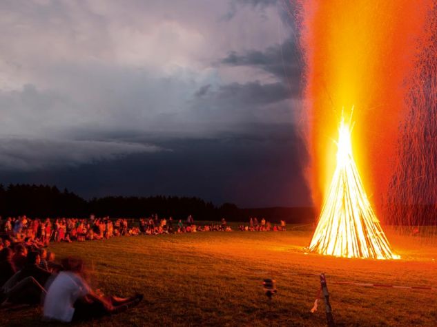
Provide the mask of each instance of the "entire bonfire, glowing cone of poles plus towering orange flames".
{"label": "entire bonfire, glowing cone of poles plus towering orange flames", "polygon": [[[429,43],[423,31],[436,0],[297,1],[307,176],[313,202],[322,208],[311,249],[394,258],[376,216],[389,221],[390,179],[395,167],[407,171],[397,155],[399,126],[411,110],[405,100],[416,83],[418,54]],[[338,109],[353,105],[356,129],[351,135],[342,120],[336,149]],[[355,158],[352,148],[359,149]]]}

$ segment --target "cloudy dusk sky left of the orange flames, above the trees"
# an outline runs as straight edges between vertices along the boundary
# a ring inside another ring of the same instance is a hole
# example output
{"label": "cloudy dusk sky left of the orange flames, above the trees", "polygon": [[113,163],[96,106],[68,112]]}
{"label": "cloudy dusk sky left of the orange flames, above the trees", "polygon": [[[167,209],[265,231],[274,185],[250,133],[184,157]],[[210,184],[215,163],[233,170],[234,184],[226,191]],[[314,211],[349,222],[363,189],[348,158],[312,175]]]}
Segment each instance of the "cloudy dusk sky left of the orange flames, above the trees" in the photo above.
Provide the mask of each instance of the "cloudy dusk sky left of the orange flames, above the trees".
{"label": "cloudy dusk sky left of the orange flames, above the trees", "polygon": [[1,1],[0,180],[311,203],[284,1]]}

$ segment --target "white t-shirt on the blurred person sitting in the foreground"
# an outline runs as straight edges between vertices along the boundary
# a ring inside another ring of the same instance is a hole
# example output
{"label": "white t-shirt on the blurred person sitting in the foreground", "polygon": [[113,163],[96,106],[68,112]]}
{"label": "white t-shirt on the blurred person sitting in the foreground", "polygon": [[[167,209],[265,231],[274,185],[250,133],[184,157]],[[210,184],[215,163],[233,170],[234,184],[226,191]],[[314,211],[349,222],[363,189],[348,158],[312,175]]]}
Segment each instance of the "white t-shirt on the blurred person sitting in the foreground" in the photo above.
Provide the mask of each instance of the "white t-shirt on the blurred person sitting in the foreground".
{"label": "white t-shirt on the blurred person sitting in the foreground", "polygon": [[61,271],[48,288],[43,315],[49,319],[70,322],[79,297],[90,293],[90,286],[75,273]]}

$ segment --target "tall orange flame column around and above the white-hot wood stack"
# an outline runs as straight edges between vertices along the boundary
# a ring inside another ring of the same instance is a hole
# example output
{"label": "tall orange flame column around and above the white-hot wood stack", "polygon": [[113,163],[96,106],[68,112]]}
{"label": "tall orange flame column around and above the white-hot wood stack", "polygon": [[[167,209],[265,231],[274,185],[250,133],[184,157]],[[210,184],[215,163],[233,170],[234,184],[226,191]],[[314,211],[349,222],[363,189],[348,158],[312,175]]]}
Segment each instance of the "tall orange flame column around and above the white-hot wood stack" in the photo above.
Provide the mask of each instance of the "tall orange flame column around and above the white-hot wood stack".
{"label": "tall orange flame column around and above the white-hot wood stack", "polygon": [[352,136],[358,169],[381,212],[396,164],[398,125],[405,115],[408,76],[432,0],[300,1],[300,41],[306,63],[309,180],[318,207],[336,169],[331,141],[339,109],[355,105]]}

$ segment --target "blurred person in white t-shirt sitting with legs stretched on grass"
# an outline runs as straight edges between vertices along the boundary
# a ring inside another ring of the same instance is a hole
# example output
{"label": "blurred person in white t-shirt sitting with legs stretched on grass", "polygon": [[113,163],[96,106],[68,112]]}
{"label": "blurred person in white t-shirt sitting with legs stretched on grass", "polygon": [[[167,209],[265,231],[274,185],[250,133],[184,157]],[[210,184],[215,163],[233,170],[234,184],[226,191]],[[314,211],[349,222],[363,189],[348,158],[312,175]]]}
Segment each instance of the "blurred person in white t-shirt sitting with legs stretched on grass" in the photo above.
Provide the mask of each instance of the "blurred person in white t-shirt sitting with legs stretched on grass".
{"label": "blurred person in white t-shirt sitting with legs stretched on grass", "polygon": [[62,261],[64,271],[53,280],[44,299],[43,319],[47,321],[85,321],[121,313],[136,306],[143,295],[121,298],[105,297],[88,285],[84,279],[81,259],[67,257]]}

